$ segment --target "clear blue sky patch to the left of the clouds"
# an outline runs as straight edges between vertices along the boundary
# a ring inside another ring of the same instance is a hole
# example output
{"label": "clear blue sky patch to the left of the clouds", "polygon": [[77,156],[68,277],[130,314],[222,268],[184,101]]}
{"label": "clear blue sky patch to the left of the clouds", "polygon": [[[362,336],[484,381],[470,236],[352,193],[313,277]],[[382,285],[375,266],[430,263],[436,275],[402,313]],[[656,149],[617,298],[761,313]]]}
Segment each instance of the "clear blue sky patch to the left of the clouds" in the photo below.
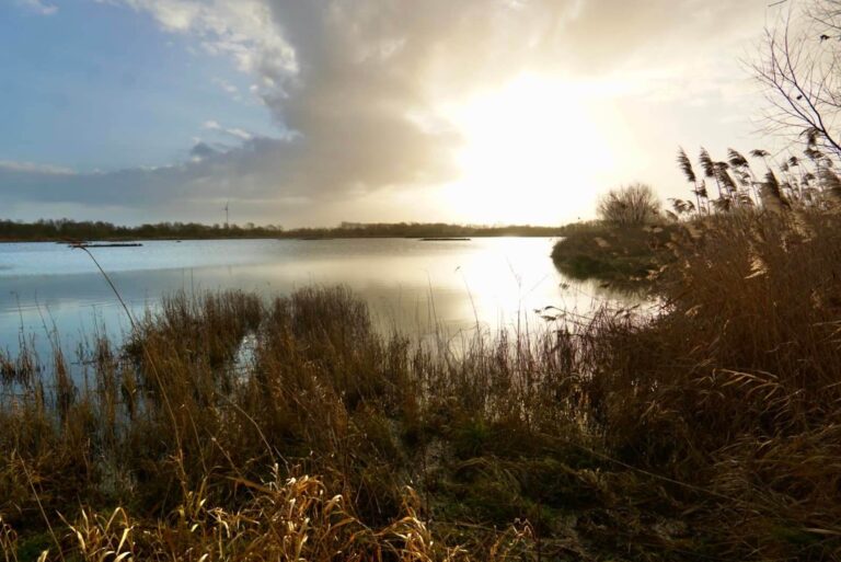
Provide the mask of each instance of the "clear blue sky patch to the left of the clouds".
{"label": "clear blue sky patch to the left of the clouds", "polygon": [[185,160],[194,137],[233,140],[208,121],[278,133],[229,58],[125,7],[57,8],[0,3],[0,160],[113,171]]}

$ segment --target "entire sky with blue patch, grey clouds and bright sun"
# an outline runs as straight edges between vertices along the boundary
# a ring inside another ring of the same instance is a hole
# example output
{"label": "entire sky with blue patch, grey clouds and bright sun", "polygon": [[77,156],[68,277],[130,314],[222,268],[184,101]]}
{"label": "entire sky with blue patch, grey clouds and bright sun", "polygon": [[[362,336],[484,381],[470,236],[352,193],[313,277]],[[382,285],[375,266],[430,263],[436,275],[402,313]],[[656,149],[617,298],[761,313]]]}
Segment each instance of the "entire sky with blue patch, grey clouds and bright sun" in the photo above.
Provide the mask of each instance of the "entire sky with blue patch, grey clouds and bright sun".
{"label": "entire sky with blue patch, grey clouds and bright sun", "polygon": [[763,148],[768,0],[0,0],[0,218],[558,225]]}

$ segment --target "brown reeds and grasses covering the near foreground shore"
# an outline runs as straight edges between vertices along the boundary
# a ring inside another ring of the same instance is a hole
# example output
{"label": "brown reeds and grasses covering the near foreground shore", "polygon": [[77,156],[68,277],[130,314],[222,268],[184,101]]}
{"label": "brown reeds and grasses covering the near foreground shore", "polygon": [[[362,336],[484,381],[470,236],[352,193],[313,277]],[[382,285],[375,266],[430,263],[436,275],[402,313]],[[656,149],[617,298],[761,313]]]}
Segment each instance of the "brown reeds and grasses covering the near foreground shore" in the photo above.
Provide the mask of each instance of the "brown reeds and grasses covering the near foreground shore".
{"label": "brown reeds and grasses covering the near foreground shore", "polygon": [[[183,295],[4,357],[7,560],[841,557],[841,225],[675,234],[654,318],[600,310],[454,354],[344,289]],[[243,342],[247,345],[243,347]]]}

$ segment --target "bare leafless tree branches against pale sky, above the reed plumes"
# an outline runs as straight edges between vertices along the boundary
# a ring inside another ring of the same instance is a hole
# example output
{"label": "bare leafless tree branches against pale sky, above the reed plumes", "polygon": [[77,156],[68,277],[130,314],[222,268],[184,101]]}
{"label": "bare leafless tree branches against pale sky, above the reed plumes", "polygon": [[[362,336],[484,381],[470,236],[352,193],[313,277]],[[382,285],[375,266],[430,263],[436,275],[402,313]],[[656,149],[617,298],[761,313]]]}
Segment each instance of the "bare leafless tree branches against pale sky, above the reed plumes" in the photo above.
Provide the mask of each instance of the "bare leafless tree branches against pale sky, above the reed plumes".
{"label": "bare leafless tree branches against pale sky, above the reed plumes", "polygon": [[805,137],[841,157],[841,0],[785,2],[776,27],[765,30],[753,72],[767,89],[772,129]]}

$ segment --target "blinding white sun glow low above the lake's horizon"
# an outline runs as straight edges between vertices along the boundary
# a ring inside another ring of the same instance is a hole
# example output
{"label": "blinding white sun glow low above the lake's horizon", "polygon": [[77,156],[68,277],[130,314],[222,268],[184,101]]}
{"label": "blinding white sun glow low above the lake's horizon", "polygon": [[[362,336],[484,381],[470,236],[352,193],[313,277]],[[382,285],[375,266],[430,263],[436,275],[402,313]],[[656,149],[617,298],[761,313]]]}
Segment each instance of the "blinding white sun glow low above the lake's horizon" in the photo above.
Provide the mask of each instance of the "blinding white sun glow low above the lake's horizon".
{"label": "blinding white sun glow low above the lake's horizon", "polygon": [[[464,146],[446,188],[466,220],[552,225],[590,215],[615,168],[591,87],[522,77],[451,110]],[[603,101],[603,98],[602,98]],[[601,104],[603,105],[603,103]]]}

